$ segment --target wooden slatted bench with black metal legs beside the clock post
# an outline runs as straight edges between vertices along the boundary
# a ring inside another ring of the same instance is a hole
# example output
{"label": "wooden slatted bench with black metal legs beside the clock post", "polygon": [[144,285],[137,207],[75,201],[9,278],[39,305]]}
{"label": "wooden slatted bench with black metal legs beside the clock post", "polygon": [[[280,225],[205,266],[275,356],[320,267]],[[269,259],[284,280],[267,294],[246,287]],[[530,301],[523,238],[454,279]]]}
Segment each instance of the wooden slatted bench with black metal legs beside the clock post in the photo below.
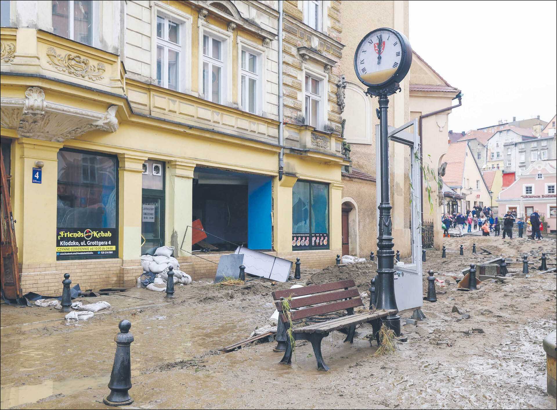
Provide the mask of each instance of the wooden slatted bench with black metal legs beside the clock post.
{"label": "wooden slatted bench with black metal legs beside the clock post", "polygon": [[[311,296],[296,298],[306,295]],[[292,330],[294,340],[309,340],[309,342],[311,342],[311,347],[314,350],[315,359],[317,360],[317,369],[323,371],[328,371],[329,367],[323,362],[321,340],[329,335],[329,333],[334,330],[348,329],[348,334],[344,342],[354,343],[354,332],[357,324],[371,322],[373,334],[377,334],[381,326],[381,321],[379,319],[387,317],[388,315],[397,314],[398,312],[392,309],[354,314],[354,308],[363,306],[364,303],[361,301],[360,293],[355,286],[354,280],[341,280],[339,282],[273,292],[272,297],[280,313],[278,320],[284,323],[286,329],[290,328],[290,323],[286,314],[282,312],[282,299],[286,299],[290,296],[293,298],[290,302],[290,317],[292,321],[310,318],[316,315],[339,312],[341,310],[346,310],[346,312],[348,312],[348,314],[343,317],[309,324]],[[304,309],[292,310],[302,307]],[[280,361],[281,364],[292,363],[292,344],[290,338],[287,337],[286,339],[286,352]]]}

